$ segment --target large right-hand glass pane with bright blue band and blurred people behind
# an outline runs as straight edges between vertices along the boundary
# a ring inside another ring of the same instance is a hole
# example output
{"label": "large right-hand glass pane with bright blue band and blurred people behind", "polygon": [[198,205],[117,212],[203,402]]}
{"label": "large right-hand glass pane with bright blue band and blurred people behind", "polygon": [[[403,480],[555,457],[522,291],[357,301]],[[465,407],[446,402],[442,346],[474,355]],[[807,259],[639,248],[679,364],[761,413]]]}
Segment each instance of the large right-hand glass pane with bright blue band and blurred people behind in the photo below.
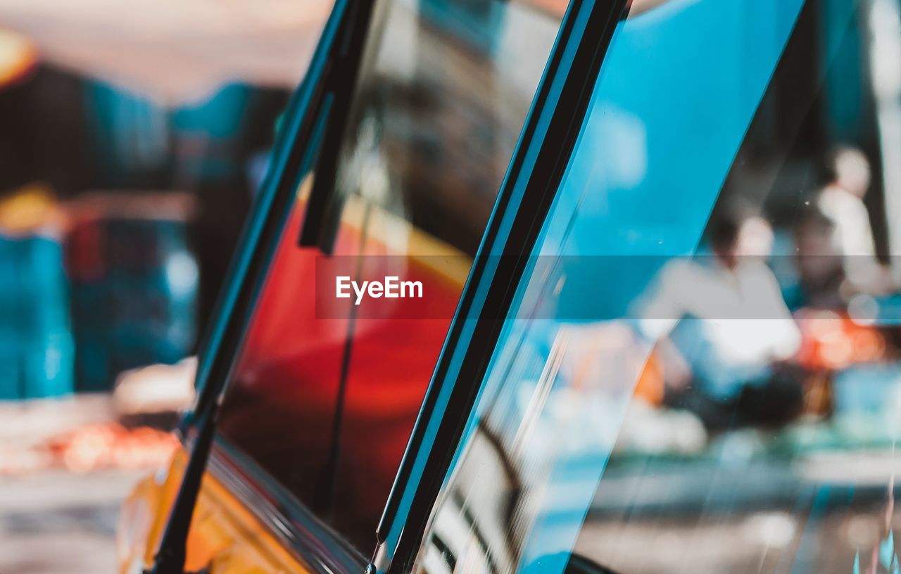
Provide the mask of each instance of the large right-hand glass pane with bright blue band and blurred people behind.
{"label": "large right-hand glass pane with bright blue band and blurred people behind", "polygon": [[633,3],[419,571],[901,568],[898,13]]}

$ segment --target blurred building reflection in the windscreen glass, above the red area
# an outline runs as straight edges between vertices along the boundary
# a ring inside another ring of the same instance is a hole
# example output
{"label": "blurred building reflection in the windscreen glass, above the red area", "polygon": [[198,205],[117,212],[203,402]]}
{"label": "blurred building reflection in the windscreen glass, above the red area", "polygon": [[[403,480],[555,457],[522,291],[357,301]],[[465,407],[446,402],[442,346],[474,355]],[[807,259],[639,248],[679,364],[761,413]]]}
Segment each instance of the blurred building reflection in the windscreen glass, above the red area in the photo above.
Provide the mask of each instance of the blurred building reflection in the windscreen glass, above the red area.
{"label": "blurred building reflection in the windscreen glass, above the red area", "polygon": [[[376,69],[360,80],[369,103],[360,104],[358,121],[381,116],[388,176],[403,186],[407,217],[471,254],[532,103],[556,21],[519,3],[411,4],[394,2],[381,14],[382,25],[397,36],[378,50]],[[421,24],[415,23],[417,9]]]}

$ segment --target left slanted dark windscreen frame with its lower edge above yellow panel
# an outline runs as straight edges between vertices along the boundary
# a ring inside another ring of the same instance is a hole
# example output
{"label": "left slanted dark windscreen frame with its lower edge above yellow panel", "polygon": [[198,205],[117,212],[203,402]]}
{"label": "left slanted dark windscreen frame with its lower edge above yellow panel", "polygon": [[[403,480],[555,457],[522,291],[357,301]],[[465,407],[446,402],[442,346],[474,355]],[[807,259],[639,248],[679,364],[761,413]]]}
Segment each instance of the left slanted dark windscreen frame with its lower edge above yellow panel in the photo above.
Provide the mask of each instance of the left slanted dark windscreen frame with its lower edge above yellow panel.
{"label": "left slanted dark windscreen frame with its lower edge above yellow panel", "polygon": [[[339,129],[343,125],[344,118],[335,118],[329,112],[334,90],[346,85],[348,75],[339,72],[336,78],[330,72],[336,63],[343,63],[342,56],[352,53],[352,45],[365,40],[373,1],[335,1],[307,72],[287,104],[267,174],[241,231],[211,324],[200,345],[195,404],[176,429],[190,456],[154,564],[148,570],[153,574],[183,570],[187,533],[207,471],[223,481],[261,524],[273,534],[280,534],[289,550],[308,567],[331,574],[359,571],[365,566],[365,559],[359,555],[341,551],[348,543],[312,515],[305,515],[299,502],[287,502],[286,493],[268,478],[268,473],[261,469],[248,471],[247,464],[239,472],[235,450],[217,436],[215,418],[296,191],[321,159],[323,132],[336,124]],[[363,36],[355,37],[354,32],[360,29]],[[323,548],[331,550],[322,552]]]}

